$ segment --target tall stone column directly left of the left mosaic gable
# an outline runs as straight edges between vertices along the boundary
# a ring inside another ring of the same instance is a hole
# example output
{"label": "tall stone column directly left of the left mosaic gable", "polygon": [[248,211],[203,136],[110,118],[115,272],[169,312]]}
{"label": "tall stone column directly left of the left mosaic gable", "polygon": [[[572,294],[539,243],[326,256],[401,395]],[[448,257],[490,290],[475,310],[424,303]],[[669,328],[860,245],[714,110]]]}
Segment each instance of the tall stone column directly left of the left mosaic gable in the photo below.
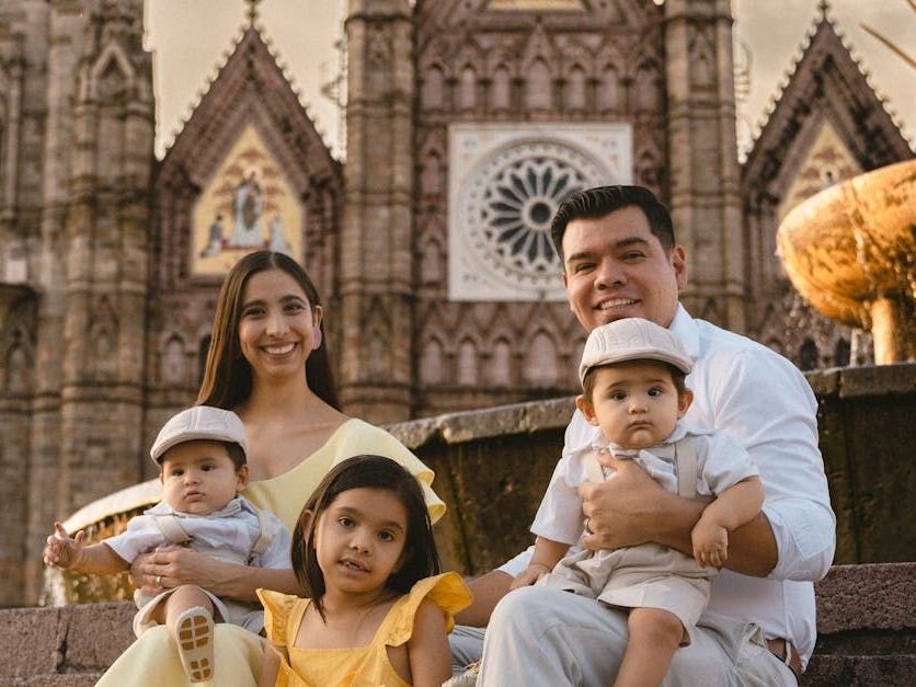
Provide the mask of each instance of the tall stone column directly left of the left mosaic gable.
{"label": "tall stone column directly left of the left mosaic gable", "polygon": [[58,508],[142,476],[152,69],[142,0],[88,23],[73,108]]}

